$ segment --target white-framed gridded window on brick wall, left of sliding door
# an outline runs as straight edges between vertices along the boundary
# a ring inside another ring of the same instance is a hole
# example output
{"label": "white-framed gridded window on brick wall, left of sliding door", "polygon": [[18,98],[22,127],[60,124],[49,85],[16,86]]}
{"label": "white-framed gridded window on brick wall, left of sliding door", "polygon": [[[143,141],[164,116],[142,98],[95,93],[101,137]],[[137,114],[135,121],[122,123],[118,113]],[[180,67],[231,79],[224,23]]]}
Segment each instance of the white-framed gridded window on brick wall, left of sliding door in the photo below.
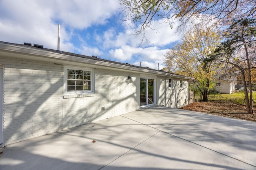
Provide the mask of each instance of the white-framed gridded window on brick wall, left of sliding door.
{"label": "white-framed gridded window on brick wall, left of sliding door", "polygon": [[64,66],[64,95],[94,93],[94,69]]}

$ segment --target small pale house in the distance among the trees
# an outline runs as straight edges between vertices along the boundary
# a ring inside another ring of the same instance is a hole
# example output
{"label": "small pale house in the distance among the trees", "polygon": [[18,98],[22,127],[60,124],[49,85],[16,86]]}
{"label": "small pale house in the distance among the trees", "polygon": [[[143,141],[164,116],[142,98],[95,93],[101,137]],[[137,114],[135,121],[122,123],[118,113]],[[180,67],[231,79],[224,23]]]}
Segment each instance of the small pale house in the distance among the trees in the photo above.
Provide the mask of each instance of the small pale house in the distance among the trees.
{"label": "small pale house in the distance among the trees", "polygon": [[214,89],[221,94],[232,94],[235,91],[235,78],[218,78]]}

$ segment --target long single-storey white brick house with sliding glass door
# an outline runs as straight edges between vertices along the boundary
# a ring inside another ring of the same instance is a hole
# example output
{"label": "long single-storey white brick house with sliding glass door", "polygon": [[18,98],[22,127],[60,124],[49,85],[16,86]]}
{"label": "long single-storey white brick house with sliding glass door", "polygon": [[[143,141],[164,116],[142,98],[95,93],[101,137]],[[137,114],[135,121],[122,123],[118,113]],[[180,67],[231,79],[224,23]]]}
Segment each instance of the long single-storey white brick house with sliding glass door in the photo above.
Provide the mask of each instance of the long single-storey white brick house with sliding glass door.
{"label": "long single-storey white brick house with sliding glass door", "polygon": [[190,77],[0,41],[0,143],[46,135],[151,105],[188,104]]}

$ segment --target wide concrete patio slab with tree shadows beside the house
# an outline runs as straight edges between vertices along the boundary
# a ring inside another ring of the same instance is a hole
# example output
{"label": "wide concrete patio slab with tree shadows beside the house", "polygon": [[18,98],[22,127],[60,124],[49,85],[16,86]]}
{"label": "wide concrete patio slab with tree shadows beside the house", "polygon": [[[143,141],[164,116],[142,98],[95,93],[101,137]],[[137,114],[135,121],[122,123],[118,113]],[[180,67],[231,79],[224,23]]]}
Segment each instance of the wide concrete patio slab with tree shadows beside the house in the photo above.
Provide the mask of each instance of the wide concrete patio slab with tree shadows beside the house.
{"label": "wide concrete patio slab with tree shadows beside the house", "polygon": [[8,145],[0,169],[255,170],[256,123],[153,106]]}

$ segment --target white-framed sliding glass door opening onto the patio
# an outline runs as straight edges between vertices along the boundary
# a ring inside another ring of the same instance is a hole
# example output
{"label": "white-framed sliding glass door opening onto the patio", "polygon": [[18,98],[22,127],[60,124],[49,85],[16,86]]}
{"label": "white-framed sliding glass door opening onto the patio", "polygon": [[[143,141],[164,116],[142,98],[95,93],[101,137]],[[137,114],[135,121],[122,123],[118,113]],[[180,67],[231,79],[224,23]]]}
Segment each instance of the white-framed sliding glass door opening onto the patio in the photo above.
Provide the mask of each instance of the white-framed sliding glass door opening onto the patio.
{"label": "white-framed sliding glass door opening onto the patio", "polygon": [[154,79],[140,78],[140,106],[154,104]]}

